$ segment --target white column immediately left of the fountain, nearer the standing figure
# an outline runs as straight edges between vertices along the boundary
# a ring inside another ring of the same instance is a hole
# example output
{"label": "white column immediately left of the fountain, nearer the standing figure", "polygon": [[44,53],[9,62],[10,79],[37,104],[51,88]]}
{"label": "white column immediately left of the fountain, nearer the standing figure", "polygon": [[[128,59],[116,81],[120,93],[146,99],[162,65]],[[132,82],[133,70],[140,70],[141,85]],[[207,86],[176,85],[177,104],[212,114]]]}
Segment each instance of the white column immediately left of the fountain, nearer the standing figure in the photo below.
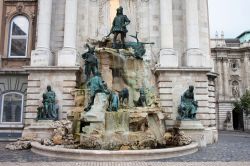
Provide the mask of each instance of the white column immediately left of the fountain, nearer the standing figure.
{"label": "white column immediately left of the fountain, nearer the standing figure", "polygon": [[77,0],[66,0],[64,43],[58,52],[58,66],[76,66]]}

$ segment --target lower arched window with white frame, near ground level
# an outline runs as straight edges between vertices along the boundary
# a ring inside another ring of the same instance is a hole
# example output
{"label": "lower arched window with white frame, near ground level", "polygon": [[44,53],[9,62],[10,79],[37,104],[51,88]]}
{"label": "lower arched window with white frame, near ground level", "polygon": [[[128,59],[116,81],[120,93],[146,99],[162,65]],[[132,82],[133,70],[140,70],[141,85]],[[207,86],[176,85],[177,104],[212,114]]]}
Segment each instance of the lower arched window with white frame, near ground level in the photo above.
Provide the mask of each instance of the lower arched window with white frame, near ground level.
{"label": "lower arched window with white frame, near ground level", "polygon": [[23,94],[5,93],[1,101],[1,123],[22,123]]}

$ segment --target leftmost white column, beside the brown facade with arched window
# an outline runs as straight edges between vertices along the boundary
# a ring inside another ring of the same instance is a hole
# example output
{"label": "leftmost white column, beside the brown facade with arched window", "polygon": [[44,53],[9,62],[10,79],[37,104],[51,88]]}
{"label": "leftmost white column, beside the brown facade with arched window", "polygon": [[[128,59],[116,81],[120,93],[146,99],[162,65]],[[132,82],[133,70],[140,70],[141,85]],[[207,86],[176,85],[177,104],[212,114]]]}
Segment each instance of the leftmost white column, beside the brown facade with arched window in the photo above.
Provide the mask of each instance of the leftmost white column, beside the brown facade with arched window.
{"label": "leftmost white column, beside the brown facade with arched window", "polygon": [[31,66],[51,66],[50,30],[52,0],[39,0],[37,45],[31,52]]}

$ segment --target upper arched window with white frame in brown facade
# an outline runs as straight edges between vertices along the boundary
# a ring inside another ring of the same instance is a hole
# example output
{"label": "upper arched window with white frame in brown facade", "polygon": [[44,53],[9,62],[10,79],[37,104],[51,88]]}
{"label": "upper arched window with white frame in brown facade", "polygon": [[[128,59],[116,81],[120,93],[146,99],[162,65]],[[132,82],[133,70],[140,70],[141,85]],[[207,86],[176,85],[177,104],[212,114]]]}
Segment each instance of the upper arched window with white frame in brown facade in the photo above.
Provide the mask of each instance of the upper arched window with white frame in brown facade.
{"label": "upper arched window with white frame in brown facade", "polygon": [[15,16],[11,20],[9,32],[8,56],[10,58],[26,57],[29,36],[29,20],[25,16]]}

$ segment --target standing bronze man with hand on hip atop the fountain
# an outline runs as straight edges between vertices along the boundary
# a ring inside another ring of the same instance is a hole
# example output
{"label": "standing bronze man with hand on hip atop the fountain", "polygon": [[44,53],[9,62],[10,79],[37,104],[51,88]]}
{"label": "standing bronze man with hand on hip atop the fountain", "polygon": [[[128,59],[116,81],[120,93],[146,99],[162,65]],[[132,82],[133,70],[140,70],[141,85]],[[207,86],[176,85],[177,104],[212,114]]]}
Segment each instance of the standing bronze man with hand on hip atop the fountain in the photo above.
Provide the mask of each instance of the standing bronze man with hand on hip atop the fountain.
{"label": "standing bronze man with hand on hip atop the fountain", "polygon": [[110,31],[110,34],[111,33],[114,34],[113,48],[116,48],[116,49],[119,48],[117,46],[117,43],[116,43],[118,34],[121,34],[122,48],[125,48],[125,40],[124,39],[126,37],[126,33],[128,32],[126,26],[129,23],[130,23],[130,20],[128,19],[128,17],[123,14],[123,8],[119,7],[118,9],[116,9],[116,16],[113,20],[112,28]]}

